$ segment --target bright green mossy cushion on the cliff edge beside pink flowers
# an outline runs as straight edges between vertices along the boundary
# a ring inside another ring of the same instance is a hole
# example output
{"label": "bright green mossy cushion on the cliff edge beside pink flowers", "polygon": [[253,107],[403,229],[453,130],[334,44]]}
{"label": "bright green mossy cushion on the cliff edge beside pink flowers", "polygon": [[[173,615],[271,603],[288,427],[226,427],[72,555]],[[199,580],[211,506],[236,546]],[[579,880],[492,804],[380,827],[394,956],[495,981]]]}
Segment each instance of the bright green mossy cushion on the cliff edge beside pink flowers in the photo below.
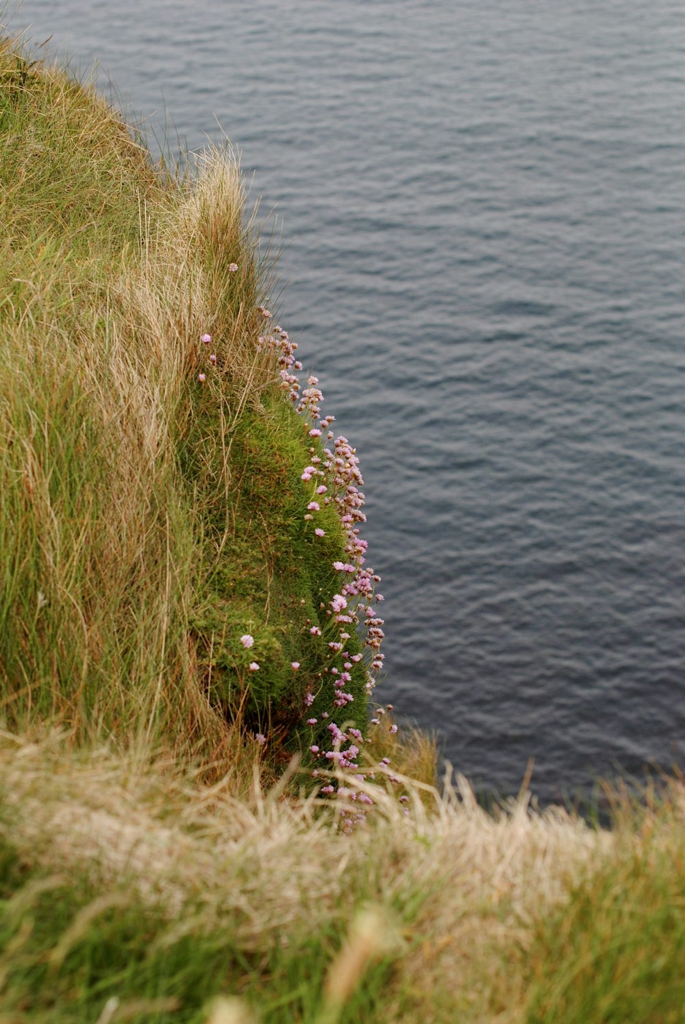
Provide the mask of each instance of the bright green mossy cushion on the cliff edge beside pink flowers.
{"label": "bright green mossy cushion on the cliff edge beside pink flowers", "polygon": [[[185,439],[184,465],[195,458],[200,466],[208,438],[220,431],[219,419],[215,403],[203,398]],[[234,709],[242,701],[256,731],[268,725],[282,737],[299,729],[305,691],[323,687],[322,667],[331,659],[325,631],[326,605],[336,588],[332,566],[345,557],[343,530],[332,508],[316,520],[326,529],[324,538],[314,537],[313,525],[305,523],[307,494],[300,474],[309,460],[307,441],[302,421],[277,394],[265,394],[230,431],[228,492],[195,473],[204,482],[201,505],[211,565],[194,618],[202,664],[222,705]],[[312,625],[322,636],[310,634]],[[244,633],[255,640],[249,650],[240,644]],[[360,649],[356,636],[348,646],[350,653]],[[260,670],[250,673],[253,660]],[[293,662],[300,666],[296,672]],[[361,708],[365,681],[363,669],[355,666],[352,692]],[[359,725],[365,727],[363,717]]]}

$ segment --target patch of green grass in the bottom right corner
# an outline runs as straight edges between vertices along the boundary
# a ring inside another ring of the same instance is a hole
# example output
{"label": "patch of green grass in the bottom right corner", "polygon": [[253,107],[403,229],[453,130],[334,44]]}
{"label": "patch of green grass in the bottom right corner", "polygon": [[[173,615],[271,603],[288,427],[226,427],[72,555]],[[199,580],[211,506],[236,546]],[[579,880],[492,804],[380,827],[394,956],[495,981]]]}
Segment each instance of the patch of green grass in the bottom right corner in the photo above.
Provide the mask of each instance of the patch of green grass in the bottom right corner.
{"label": "patch of green grass in the bottom right corner", "polygon": [[528,1024],[682,1024],[682,833],[602,864],[533,934]]}

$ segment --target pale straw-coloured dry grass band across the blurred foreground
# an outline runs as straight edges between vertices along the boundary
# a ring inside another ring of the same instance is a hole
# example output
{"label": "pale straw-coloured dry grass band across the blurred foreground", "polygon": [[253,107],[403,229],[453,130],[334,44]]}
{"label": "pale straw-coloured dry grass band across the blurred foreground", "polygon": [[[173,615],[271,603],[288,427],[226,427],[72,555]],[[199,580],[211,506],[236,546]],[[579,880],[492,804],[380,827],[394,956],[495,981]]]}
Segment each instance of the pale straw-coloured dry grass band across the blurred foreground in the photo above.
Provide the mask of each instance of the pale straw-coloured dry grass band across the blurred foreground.
{"label": "pale straw-coloured dry grass band across the blurred foreground", "polygon": [[[389,942],[400,970],[388,1020],[411,1020],[427,993],[439,993],[433,1016],[425,1014],[435,1021],[448,1019],[445,1007],[491,1004],[499,988],[511,998],[517,975],[500,976],[494,950],[501,956],[524,942],[531,916],[563,900],[615,842],[560,809],[530,812],[526,797],[494,817],[462,777],[442,795],[402,777],[406,810],[391,786],[365,784],[375,805],[351,834],[335,806],[263,792],[256,763],[247,797],[244,782],[234,771],[207,786],[171,761],[136,764],[105,749],[69,755],[57,736],[5,735],[0,749],[4,813],[23,856],[51,873],[90,872],[111,885],[125,876],[134,898],[162,899],[181,931],[230,915],[246,953],[263,951],[275,934],[331,922],[363,932],[368,955],[343,950],[339,976],[332,968],[332,1006],[344,1004],[348,975],[363,973]],[[375,908],[363,928],[354,924],[360,895]],[[379,930],[371,937],[370,920]],[[514,1008],[520,999],[519,991]],[[498,1019],[508,1019],[505,1009]]]}

